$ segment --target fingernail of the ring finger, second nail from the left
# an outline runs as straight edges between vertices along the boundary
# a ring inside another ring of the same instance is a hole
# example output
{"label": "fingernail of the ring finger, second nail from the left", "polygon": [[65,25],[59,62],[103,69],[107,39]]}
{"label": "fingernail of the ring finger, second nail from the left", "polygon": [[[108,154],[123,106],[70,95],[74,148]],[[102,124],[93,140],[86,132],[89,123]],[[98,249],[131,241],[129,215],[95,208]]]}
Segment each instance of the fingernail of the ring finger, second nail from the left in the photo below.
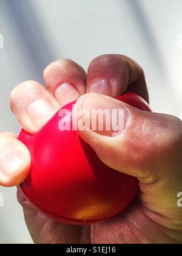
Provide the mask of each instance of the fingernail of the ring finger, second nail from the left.
{"label": "fingernail of the ring finger, second nail from the left", "polygon": [[27,108],[29,118],[37,127],[41,127],[47,123],[55,113],[56,108],[45,99],[37,99],[36,101],[33,101]]}

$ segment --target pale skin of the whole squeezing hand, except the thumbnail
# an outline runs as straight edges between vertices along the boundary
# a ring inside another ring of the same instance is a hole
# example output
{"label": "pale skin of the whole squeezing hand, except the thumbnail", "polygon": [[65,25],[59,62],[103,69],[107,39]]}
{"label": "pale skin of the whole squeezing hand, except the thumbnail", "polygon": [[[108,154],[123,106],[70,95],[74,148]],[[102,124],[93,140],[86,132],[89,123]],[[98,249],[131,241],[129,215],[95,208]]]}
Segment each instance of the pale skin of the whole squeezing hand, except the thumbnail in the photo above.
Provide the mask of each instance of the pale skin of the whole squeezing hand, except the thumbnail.
{"label": "pale skin of the whole squeezing hand, except the thumbnail", "polygon": [[[59,108],[76,99],[78,109],[126,108],[130,121],[121,137],[92,130],[79,131],[79,135],[106,165],[137,177],[140,193],[116,218],[92,226],[72,226],[45,217],[18,191],[33,241],[181,244],[182,208],[177,205],[177,194],[182,191],[182,122],[175,116],[142,112],[108,97],[133,91],[149,101],[141,67],[123,55],[103,55],[92,61],[86,74],[72,60],[58,60],[45,69],[44,80],[45,88],[27,81],[12,91],[10,105],[19,124],[36,133]],[[22,162],[13,161],[15,157]],[[19,185],[29,171],[29,150],[16,135],[2,133],[0,185]]]}

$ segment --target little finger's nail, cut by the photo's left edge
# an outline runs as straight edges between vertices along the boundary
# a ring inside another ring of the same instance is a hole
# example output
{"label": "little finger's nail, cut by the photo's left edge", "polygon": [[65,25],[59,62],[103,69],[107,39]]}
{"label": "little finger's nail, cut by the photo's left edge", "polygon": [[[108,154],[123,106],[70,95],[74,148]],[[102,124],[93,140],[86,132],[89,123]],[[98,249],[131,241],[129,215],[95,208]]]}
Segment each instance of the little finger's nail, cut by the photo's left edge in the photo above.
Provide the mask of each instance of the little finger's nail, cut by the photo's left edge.
{"label": "little finger's nail, cut by the photo's left edge", "polygon": [[25,162],[26,156],[21,151],[6,149],[0,154],[0,175],[9,176]]}

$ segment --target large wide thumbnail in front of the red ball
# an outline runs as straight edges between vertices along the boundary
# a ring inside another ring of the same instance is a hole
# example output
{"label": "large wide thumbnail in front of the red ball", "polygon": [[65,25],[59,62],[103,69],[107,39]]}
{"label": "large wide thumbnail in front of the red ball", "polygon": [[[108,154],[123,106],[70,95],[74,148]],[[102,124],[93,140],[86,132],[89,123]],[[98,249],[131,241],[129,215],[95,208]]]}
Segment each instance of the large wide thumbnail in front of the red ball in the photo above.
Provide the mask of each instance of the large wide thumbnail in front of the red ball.
{"label": "large wide thumbnail in front of the red ball", "polygon": [[86,126],[101,135],[120,137],[126,129],[129,112],[116,99],[99,94],[89,96],[82,111]]}

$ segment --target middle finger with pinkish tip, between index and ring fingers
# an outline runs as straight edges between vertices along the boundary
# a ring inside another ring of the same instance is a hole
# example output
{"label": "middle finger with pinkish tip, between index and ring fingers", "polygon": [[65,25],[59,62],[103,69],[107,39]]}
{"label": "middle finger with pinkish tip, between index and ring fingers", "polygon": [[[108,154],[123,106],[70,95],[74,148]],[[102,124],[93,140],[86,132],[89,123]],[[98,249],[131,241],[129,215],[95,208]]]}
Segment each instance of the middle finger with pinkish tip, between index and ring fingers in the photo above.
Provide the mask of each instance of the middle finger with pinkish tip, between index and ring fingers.
{"label": "middle finger with pinkish tip, between index and ring fingers", "polygon": [[86,92],[86,73],[72,60],[62,59],[51,63],[45,68],[44,80],[61,107]]}

